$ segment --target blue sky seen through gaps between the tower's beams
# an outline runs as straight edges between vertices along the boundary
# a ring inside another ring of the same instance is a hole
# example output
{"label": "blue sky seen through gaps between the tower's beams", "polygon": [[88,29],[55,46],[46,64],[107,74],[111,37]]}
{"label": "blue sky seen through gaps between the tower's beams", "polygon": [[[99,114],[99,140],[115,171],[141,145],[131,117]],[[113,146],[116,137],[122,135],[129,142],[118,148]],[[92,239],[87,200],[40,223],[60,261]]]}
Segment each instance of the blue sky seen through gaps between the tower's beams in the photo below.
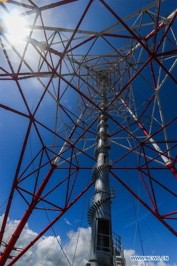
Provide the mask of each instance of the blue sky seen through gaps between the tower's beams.
{"label": "blue sky seen through gaps between the tower's beams", "polygon": [[[53,1],[56,2],[56,1]],[[43,6],[44,1],[35,1],[38,6]],[[51,3],[51,1],[45,1],[45,4]],[[151,3],[151,1],[107,1],[107,3],[111,6],[112,9],[115,10],[115,12],[121,17],[124,18],[127,15],[137,11],[141,7],[146,6],[147,4]],[[176,1],[172,0],[166,0],[162,2],[160,14],[163,16],[168,13],[172,13],[176,6]],[[50,9],[45,11],[45,13],[42,13],[43,15],[43,22],[44,25],[47,26],[56,26],[61,28],[75,28],[77,25],[77,22],[79,21],[82,12],[84,11],[85,7],[87,5],[87,1],[78,1],[74,4],[68,4],[66,6],[62,6],[60,8],[56,9]],[[13,5],[8,5],[9,9],[13,9]],[[25,10],[21,8],[21,10]],[[151,9],[154,11],[154,9]],[[3,11],[2,11],[3,16]],[[52,18],[51,18],[52,16]],[[29,19],[29,24],[32,23],[34,19],[34,15],[31,16]],[[146,21],[149,21],[147,18],[144,19],[144,23]],[[103,7],[103,5],[99,1],[94,1],[91,5],[87,15],[85,16],[85,19],[83,20],[81,26],[79,29],[82,30],[92,30],[92,31],[100,31],[108,26],[114,24],[116,22],[116,19],[111,15],[108,10]],[[130,20],[128,25],[131,25],[131,23],[134,23],[134,20]],[[37,21],[36,25],[40,25],[40,20]],[[176,26],[173,26],[173,30],[175,30]],[[147,35],[152,30],[152,25],[144,27],[144,32],[142,32],[142,35]],[[49,37],[51,32],[47,32],[47,36]],[[122,31],[120,34],[126,34],[128,33],[126,31]],[[66,36],[70,37],[71,34],[66,34]],[[43,41],[43,35],[36,30],[34,32],[33,38],[36,38],[39,41]],[[56,37],[58,38],[58,37]],[[58,38],[59,40],[59,38]],[[3,40],[4,41],[4,40]],[[56,40],[57,41],[57,40]],[[79,41],[80,42],[80,41]],[[79,43],[78,41],[74,41],[73,45],[76,45]],[[5,43],[5,41],[4,41]],[[128,44],[128,41],[124,39],[114,39],[111,40],[111,43],[115,47],[121,47]],[[24,42],[20,42],[17,44],[20,46],[20,49],[25,46]],[[85,53],[90,47],[91,43],[85,44],[84,48],[78,48],[77,53]],[[38,55],[36,54],[36,51],[32,49],[32,46],[29,47],[29,53],[27,54],[27,59],[30,60],[30,65],[33,66],[34,70],[36,71],[36,60],[38,60]],[[54,48],[54,47],[53,47]],[[170,43],[167,43],[167,49],[173,49],[170,46]],[[57,46],[56,48],[59,51],[62,50],[61,45]],[[61,49],[61,50],[60,50]],[[97,45],[95,45],[90,51],[91,54],[103,54],[107,51],[110,51],[111,48],[103,41],[98,40]],[[9,57],[13,58],[13,67],[16,71],[19,64],[19,59],[10,51],[10,49],[7,49],[7,52],[9,53]],[[144,54],[145,58],[145,54]],[[54,58],[55,64],[57,63],[58,58]],[[167,60],[168,62],[165,62],[164,65],[167,69],[170,68],[172,65],[172,62],[174,62],[174,59]],[[4,54],[1,51],[1,66],[7,69],[9,71],[9,67],[7,65],[7,62],[4,58]],[[157,64],[153,64],[155,73],[158,72],[158,66]],[[46,67],[43,67],[45,69]],[[22,70],[24,72],[27,71],[27,68],[25,66],[22,66]],[[62,68],[62,73],[66,72],[66,68]],[[2,72],[1,72],[2,73]],[[147,80],[153,84],[152,82],[152,75],[150,71],[150,67],[147,66],[146,69],[143,70],[142,74],[146,76]],[[162,77],[164,77],[166,74],[164,71],[162,71]],[[173,72],[173,75],[176,76],[176,72]],[[68,78],[69,79],[69,78]],[[45,82],[45,85],[47,84],[48,78],[41,79],[43,82]],[[58,80],[54,79],[54,85],[57,86]],[[36,79],[29,79],[29,80],[21,80],[20,85],[22,87],[22,90],[24,92],[24,95],[27,99],[27,102],[29,104],[30,110],[32,110],[32,106],[34,104],[33,110],[35,109],[35,106],[37,105],[41,94],[43,93],[43,88],[41,88],[40,83]],[[132,86],[135,88],[135,98],[137,102],[137,106],[139,106],[143,101],[147,100],[148,97],[150,97],[153,94],[153,91],[150,87],[147,86],[147,84],[142,81],[140,78],[137,78],[132,83]],[[27,113],[25,105],[22,103],[22,99],[20,96],[20,93],[17,89],[17,86],[14,81],[3,81],[1,80],[0,83],[1,87],[1,103],[4,105],[8,105],[9,107],[12,107],[14,109],[17,109],[21,112]],[[66,85],[64,82],[61,82],[61,92],[64,91]],[[51,89],[51,86],[49,87]],[[160,90],[160,100],[161,104],[163,106],[163,112],[164,112],[164,119],[165,122],[170,121],[173,117],[176,116],[176,91],[173,81],[168,78],[165,82],[165,85]],[[61,100],[61,104],[63,104],[66,108],[69,108],[72,112],[75,112],[76,109],[76,99],[77,95],[75,91],[73,91],[71,88],[68,89],[65,93],[65,96]],[[152,110],[152,106],[150,107]],[[160,115],[158,114],[158,109],[156,110],[157,116],[156,118],[159,119]],[[56,105],[53,102],[53,99],[46,94],[42,104],[40,105],[38,112],[36,113],[36,119],[48,126],[51,129],[54,129],[54,120],[55,120],[55,112],[56,112]],[[140,112],[141,113],[141,112]],[[4,109],[1,109],[0,112],[1,115],[1,191],[0,191],[0,200],[1,204],[7,199],[11,185],[14,178],[14,173],[17,168],[18,159],[20,156],[20,151],[22,147],[22,143],[25,137],[26,129],[28,126],[28,119],[25,117],[18,116],[12,112],[8,112]],[[149,115],[149,113],[147,113]],[[64,119],[67,119],[66,116],[63,114]],[[145,118],[144,118],[145,120]],[[123,120],[120,119],[120,122]],[[61,124],[61,119],[59,121],[59,125]],[[147,125],[148,127],[149,125]],[[96,127],[96,125],[95,125]],[[115,125],[113,122],[110,122],[109,130],[113,130],[115,128]],[[53,144],[53,135],[47,130],[43,129],[38,125],[38,130],[41,133],[41,136],[43,138],[43,142],[46,145],[52,145]],[[169,139],[175,139],[176,138],[176,125],[173,123],[168,127],[168,136]],[[136,136],[140,136],[138,134],[142,133],[140,130],[137,131]],[[64,132],[61,133],[61,136],[64,137]],[[74,135],[75,137],[77,135]],[[89,135],[88,135],[89,136]],[[125,133],[119,136],[126,136]],[[163,139],[163,133],[159,133],[157,136],[157,139]],[[35,156],[35,154],[39,151],[41,148],[40,141],[38,139],[38,136],[34,130],[34,127],[31,129],[30,133],[30,139],[31,139],[31,149],[32,154]],[[122,145],[127,145],[127,142],[124,140],[120,141]],[[63,141],[57,140],[57,145],[62,145]],[[90,145],[94,144],[94,141],[90,141]],[[86,144],[86,146],[89,144]],[[128,146],[128,145],[127,145]],[[164,147],[164,144],[161,145],[161,147]],[[88,151],[88,154],[90,156],[93,155],[94,149]],[[112,145],[112,148],[109,152],[109,157],[113,160],[116,160],[117,154],[119,157],[125,153],[125,150],[123,150],[121,147]],[[155,157],[156,153],[153,151],[148,151],[147,154],[150,156]],[[66,157],[69,157],[69,152],[66,153]],[[175,157],[175,150],[172,150],[172,157]],[[79,163],[80,166],[84,166],[86,164],[87,167],[93,166],[94,162],[91,164],[91,160],[87,159],[88,157],[79,157]],[[46,158],[44,158],[45,161]],[[24,160],[22,162],[21,169],[24,169],[25,166],[30,162],[30,143],[29,140],[27,142],[26,151],[24,154]],[[37,162],[37,161],[36,161]],[[141,162],[143,163],[143,158],[141,159]],[[117,167],[124,167],[124,166],[137,166],[137,155],[131,154],[126,157],[125,161],[121,160],[116,164]],[[158,166],[152,163],[153,166]],[[42,180],[43,176],[48,171],[48,165],[43,167],[40,173],[40,180]],[[32,168],[30,168],[31,170]],[[89,173],[90,172],[90,173]],[[135,193],[138,194],[138,191],[140,190],[140,197],[150,204],[147,193],[145,191],[145,188],[143,187],[142,181],[139,181],[139,175],[137,170],[113,170],[114,173],[118,175],[126,184],[128,184],[128,177],[130,179],[131,188],[135,191]],[[176,192],[176,180],[173,177],[173,175],[168,170],[151,170],[151,175],[157,179],[159,182],[162,182],[163,185],[166,185],[168,188],[170,188],[173,192]],[[89,175],[90,174],[90,175]],[[68,170],[55,170],[55,172],[52,175],[52,179],[48,183],[48,189],[52,188],[57,182],[62,180],[64,177],[68,175]],[[33,187],[34,182],[33,177],[29,182],[27,183],[26,187],[30,190]],[[72,180],[74,178],[74,175],[72,175]],[[73,190],[73,194],[71,199],[74,199],[75,196],[81,192],[88,183],[88,178],[91,181],[91,171],[90,170],[80,170],[78,174],[78,178],[75,183],[75,188]],[[24,181],[23,185],[26,181]],[[116,199],[113,199],[112,204],[112,228],[115,233],[121,236],[122,243],[124,249],[133,249],[133,243],[134,243],[134,236],[135,236],[135,230],[136,230],[136,219],[134,215],[134,209],[133,209],[133,203],[131,194],[120,184],[118,181],[110,175],[110,183],[111,186],[114,186],[116,188]],[[140,184],[140,185],[139,185]],[[169,195],[166,191],[164,191],[163,188],[159,188],[158,185],[154,184],[154,190],[157,198],[157,206],[159,208],[159,211],[161,212],[170,212],[174,211],[176,209],[176,202],[174,201],[174,197]],[[25,187],[24,187],[25,188]],[[45,191],[47,192],[48,189]],[[58,202],[60,206],[60,202],[62,201],[64,195],[66,184],[63,184],[61,186],[61,189],[56,191],[51,197],[48,198],[48,200],[51,200],[52,202]],[[94,192],[94,187],[90,188],[86,195],[86,204],[85,204],[85,210],[84,210],[84,216],[82,220],[82,227],[87,228],[87,203],[90,199],[90,196]],[[16,192],[15,192],[16,194]],[[53,228],[56,232],[56,235],[60,235],[61,239],[63,241],[67,241],[68,238],[66,236],[66,233],[69,230],[73,230],[76,227],[76,220],[79,220],[82,215],[83,205],[84,205],[85,195],[77,201],[74,206],[66,212],[66,214],[56,223]],[[135,209],[137,211],[138,209],[138,201],[134,198],[134,204]],[[42,205],[40,206],[42,207]],[[9,217],[11,219],[17,219],[20,220],[24,211],[26,210],[26,203],[22,200],[20,195],[17,195],[14,197],[12,202],[12,207],[9,212]],[[4,211],[2,212],[4,213]],[[2,214],[1,213],[1,214]],[[56,215],[58,215],[56,212],[50,212],[48,211],[48,215],[50,217],[50,220],[53,220]],[[65,218],[71,223],[71,225],[66,223]],[[142,237],[142,245],[144,249],[145,255],[151,255],[152,253],[154,255],[167,255],[169,256],[169,262],[177,263],[177,257],[176,257],[176,238],[175,236],[168,231],[168,229],[160,223],[148,210],[142,206],[141,203],[139,203],[139,211],[138,211],[138,221],[139,221],[139,229],[141,232]],[[168,221],[168,220],[167,220]],[[169,221],[169,224],[175,229],[177,228],[174,221]],[[33,215],[30,217],[28,221],[28,225],[31,230],[34,232],[40,233],[41,229],[45,228],[46,225],[48,225],[48,220],[46,217],[46,214],[43,210],[34,211]],[[48,230],[48,232],[45,234],[46,236],[53,235],[52,230]],[[134,249],[136,250],[137,254],[142,254],[141,244],[139,241],[139,235],[138,232],[136,234],[135,239],[135,246]],[[129,266],[129,265],[128,265]]]}

